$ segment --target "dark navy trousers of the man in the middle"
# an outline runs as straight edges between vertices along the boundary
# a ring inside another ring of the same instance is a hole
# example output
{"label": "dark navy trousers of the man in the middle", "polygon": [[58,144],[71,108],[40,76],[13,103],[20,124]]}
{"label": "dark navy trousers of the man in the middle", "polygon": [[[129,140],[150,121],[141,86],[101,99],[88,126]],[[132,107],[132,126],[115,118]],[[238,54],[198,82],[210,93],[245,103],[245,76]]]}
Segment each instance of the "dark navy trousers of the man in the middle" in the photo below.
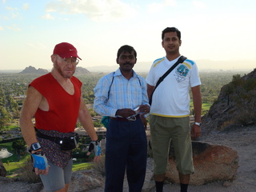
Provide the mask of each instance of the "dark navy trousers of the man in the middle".
{"label": "dark navy trousers of the man in the middle", "polygon": [[105,192],[122,192],[126,171],[130,192],[141,192],[146,174],[146,132],[142,121],[110,119],[106,131]]}

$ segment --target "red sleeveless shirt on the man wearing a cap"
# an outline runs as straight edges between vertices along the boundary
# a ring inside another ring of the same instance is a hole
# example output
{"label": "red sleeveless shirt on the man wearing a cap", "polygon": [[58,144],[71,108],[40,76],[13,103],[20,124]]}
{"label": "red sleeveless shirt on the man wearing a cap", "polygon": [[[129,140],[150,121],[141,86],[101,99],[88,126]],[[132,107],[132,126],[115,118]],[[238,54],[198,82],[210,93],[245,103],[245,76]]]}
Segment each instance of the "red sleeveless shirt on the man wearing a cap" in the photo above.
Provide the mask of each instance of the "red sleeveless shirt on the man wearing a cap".
{"label": "red sleeveless shirt on the man wearing a cap", "polygon": [[70,95],[62,88],[52,74],[34,79],[29,86],[46,98],[49,111],[38,109],[35,113],[35,126],[41,130],[57,130],[62,133],[73,132],[80,107],[82,82],[70,78],[74,85],[74,94]]}

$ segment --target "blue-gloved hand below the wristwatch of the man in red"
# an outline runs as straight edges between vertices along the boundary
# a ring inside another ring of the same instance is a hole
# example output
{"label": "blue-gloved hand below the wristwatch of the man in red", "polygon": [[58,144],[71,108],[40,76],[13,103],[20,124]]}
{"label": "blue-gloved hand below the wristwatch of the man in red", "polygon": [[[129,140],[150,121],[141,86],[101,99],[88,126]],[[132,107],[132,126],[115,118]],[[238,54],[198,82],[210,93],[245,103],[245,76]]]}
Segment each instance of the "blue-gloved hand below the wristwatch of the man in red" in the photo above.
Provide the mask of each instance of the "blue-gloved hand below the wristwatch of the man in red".
{"label": "blue-gloved hand below the wristwatch of the man in red", "polygon": [[46,155],[42,151],[31,154],[35,174],[48,174],[49,166]]}

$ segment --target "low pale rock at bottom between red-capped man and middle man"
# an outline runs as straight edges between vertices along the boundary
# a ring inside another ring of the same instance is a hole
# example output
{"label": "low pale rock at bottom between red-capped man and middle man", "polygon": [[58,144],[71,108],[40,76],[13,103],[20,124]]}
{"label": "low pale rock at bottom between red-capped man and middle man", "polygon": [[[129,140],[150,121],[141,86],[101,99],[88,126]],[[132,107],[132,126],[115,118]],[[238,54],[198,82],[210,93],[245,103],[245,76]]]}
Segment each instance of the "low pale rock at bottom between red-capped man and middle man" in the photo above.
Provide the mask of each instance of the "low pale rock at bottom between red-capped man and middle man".
{"label": "low pale rock at bottom between red-capped man and middle man", "polygon": [[72,172],[69,191],[82,192],[104,186],[104,178],[96,170]]}

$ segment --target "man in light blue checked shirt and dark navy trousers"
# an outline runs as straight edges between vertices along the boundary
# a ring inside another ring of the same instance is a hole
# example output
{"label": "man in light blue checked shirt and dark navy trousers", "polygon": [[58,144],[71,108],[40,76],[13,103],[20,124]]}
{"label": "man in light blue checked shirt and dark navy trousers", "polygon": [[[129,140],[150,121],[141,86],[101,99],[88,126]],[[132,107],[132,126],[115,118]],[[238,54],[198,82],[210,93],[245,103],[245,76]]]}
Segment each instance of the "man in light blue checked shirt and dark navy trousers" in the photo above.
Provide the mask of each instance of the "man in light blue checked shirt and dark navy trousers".
{"label": "man in light blue checked shirt and dark navy trousers", "polygon": [[145,179],[147,142],[142,115],[150,112],[150,105],[146,80],[133,70],[136,57],[132,46],[121,46],[116,59],[118,70],[101,78],[94,88],[94,110],[110,116],[105,192],[122,191],[125,171],[130,192],[142,191]]}

